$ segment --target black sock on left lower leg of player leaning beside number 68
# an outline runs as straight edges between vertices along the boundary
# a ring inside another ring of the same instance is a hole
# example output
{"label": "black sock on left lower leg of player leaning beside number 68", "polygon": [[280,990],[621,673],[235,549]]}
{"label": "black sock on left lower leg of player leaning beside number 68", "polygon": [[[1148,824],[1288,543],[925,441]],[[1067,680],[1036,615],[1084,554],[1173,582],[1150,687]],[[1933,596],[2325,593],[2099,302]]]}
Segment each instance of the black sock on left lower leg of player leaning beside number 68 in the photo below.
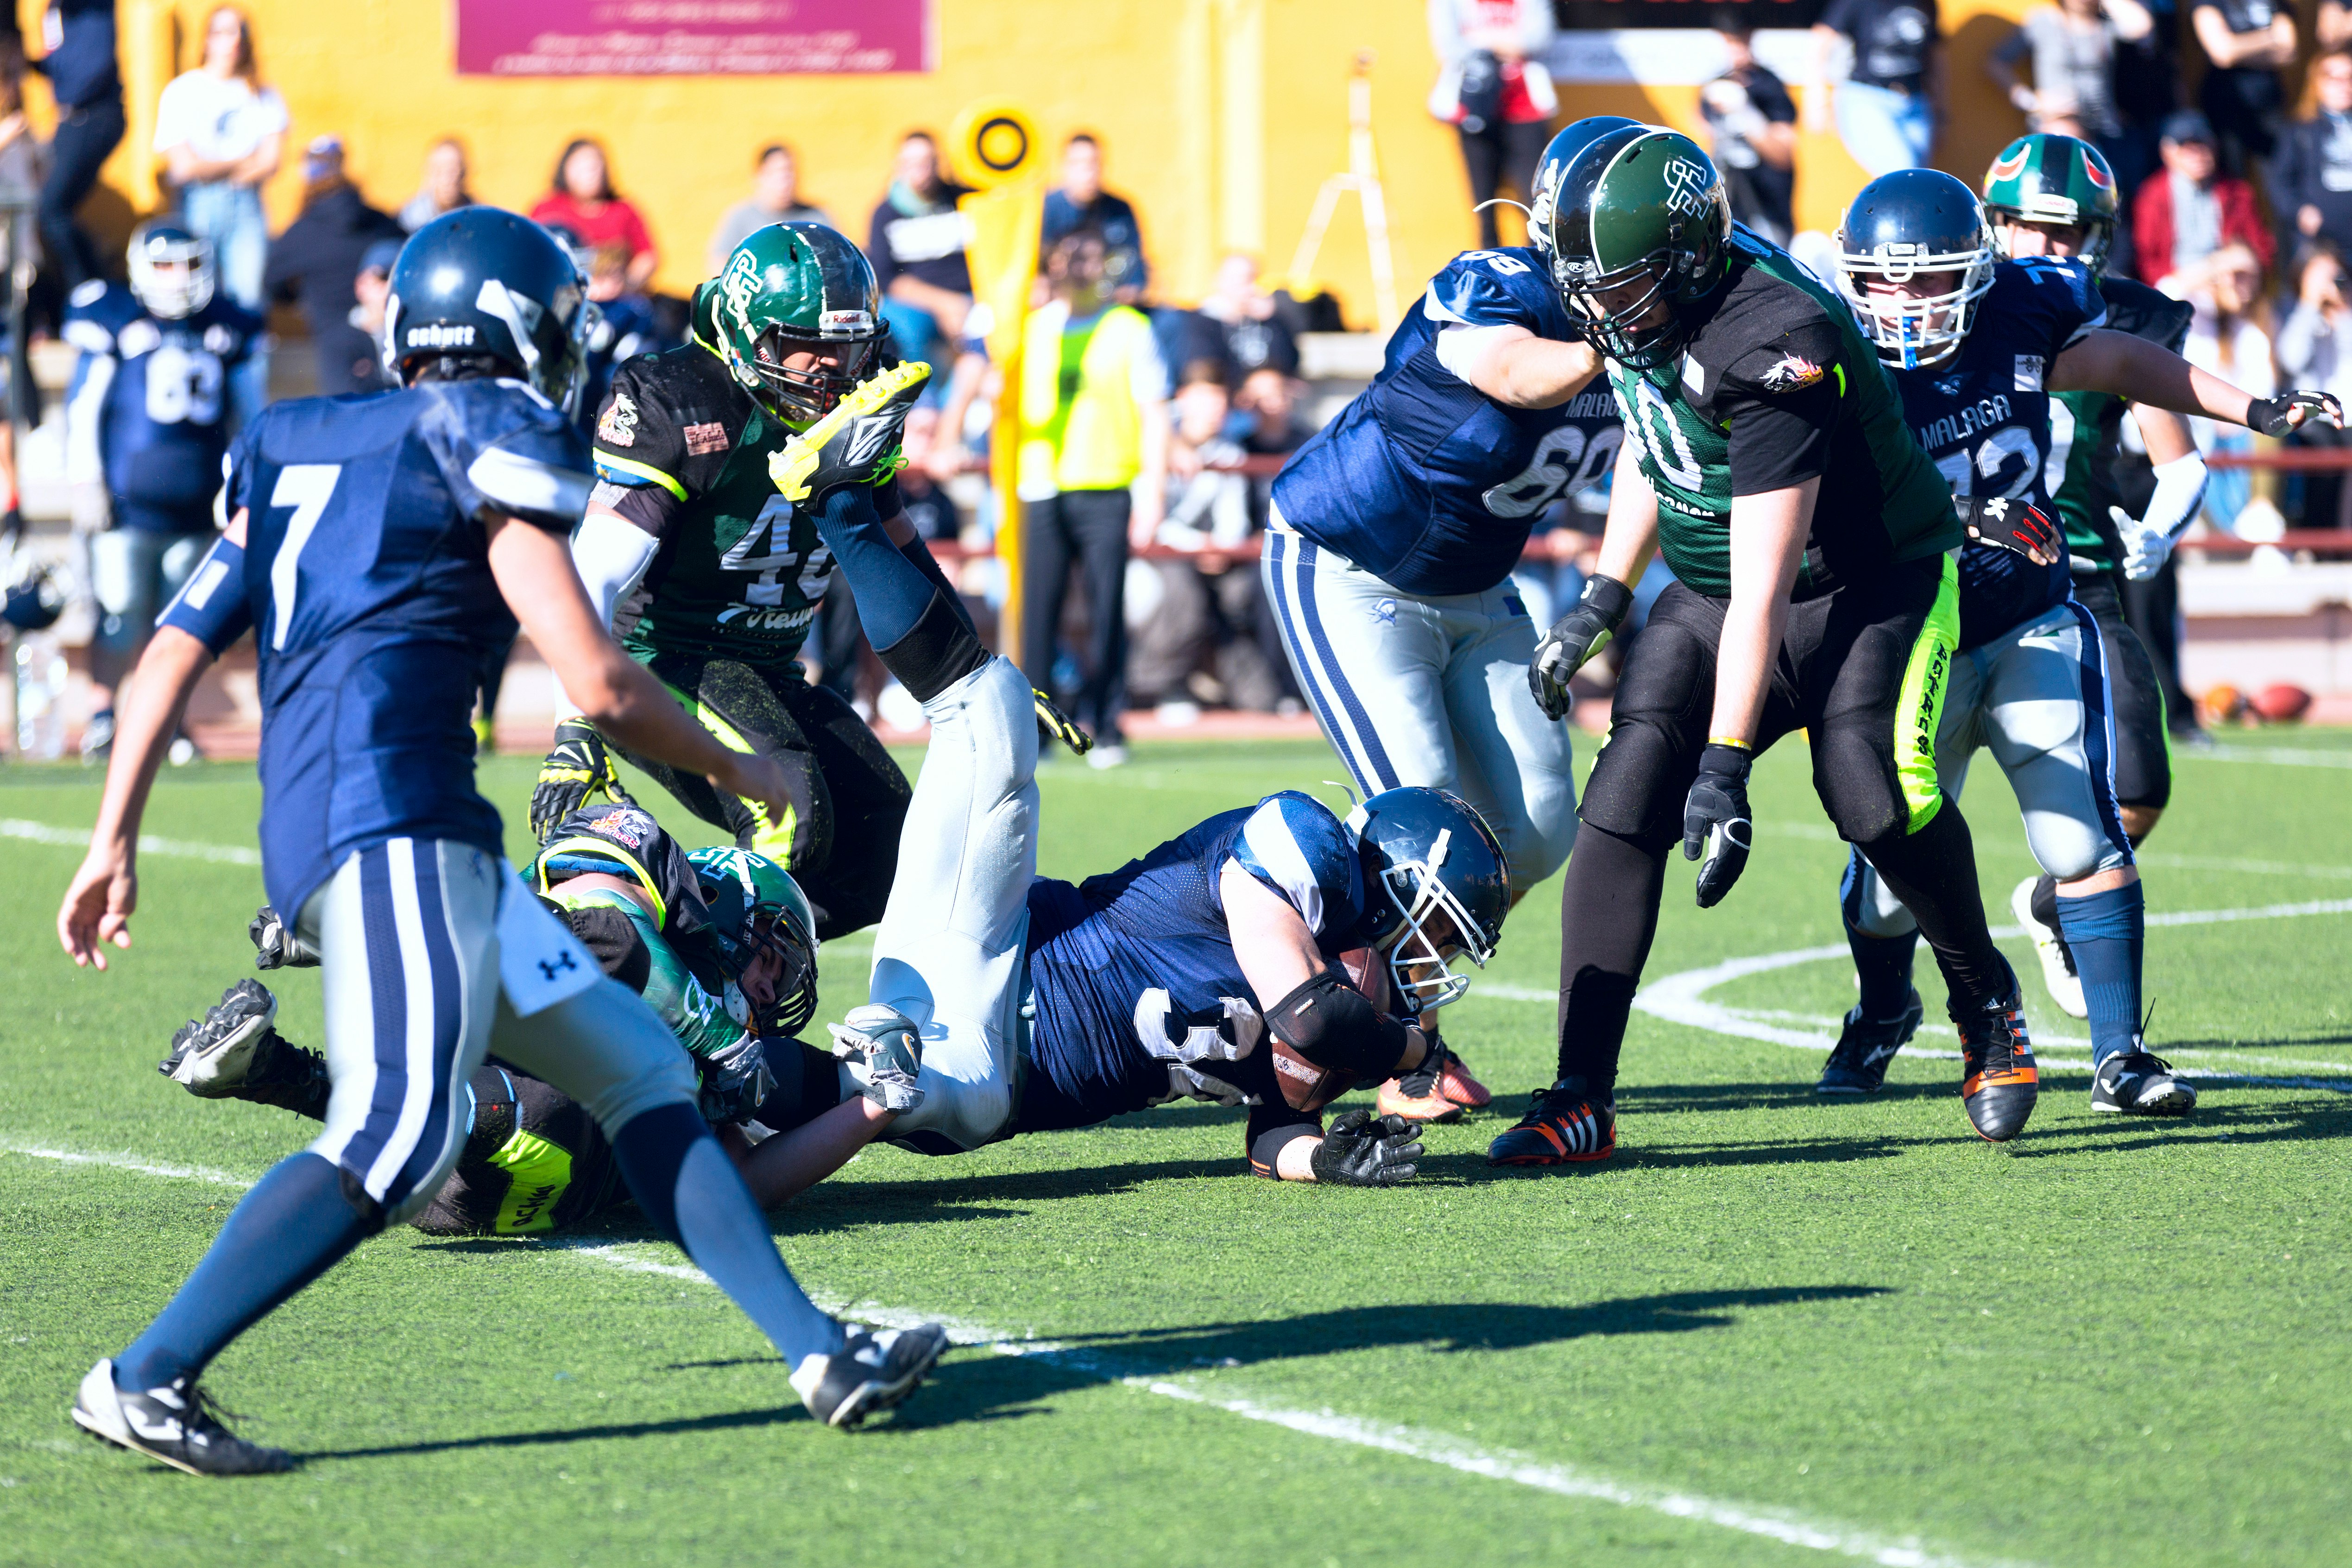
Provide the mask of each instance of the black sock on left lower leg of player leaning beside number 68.
{"label": "black sock on left lower leg of player leaning beside number 68", "polygon": [[1665,851],[1679,832],[1625,839],[1585,823],[1559,889],[1559,1077],[1616,1093],[1625,1016],[1658,936]]}

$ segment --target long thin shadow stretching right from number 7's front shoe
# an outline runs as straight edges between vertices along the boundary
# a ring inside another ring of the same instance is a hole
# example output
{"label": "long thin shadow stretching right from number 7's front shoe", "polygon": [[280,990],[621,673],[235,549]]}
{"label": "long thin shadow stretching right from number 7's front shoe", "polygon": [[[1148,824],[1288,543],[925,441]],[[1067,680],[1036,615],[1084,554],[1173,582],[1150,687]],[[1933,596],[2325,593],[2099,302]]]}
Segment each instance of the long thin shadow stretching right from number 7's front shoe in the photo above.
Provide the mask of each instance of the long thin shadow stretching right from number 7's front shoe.
{"label": "long thin shadow stretching right from number 7's front shoe", "polygon": [[[922,1399],[894,1427],[946,1427],[1033,1415],[1040,1399],[1136,1378],[1263,1366],[1350,1349],[1423,1347],[1430,1354],[1524,1349],[1592,1335],[1693,1333],[1729,1328],[1748,1307],[1886,1295],[1886,1286],[1771,1286],[1757,1291],[1675,1291],[1581,1307],[1524,1302],[1425,1302],[1341,1307],[1284,1319],[1192,1324],[1145,1333],[1077,1333],[1014,1354],[943,1363]],[[1011,1347],[1009,1347],[1011,1349]]]}

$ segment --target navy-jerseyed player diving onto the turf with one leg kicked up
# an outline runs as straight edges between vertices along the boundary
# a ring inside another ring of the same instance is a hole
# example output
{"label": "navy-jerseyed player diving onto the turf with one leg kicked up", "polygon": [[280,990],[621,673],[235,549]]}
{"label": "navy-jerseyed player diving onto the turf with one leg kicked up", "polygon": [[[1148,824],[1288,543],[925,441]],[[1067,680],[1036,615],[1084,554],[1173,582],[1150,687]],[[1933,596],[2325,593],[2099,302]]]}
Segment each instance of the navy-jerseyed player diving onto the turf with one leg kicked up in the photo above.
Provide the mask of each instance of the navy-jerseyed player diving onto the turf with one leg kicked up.
{"label": "navy-jerseyed player diving onto the turf with one leg kicked up", "polygon": [[927,376],[861,383],[769,465],[931,733],[868,1001],[830,1025],[842,1103],[760,1145],[755,1190],[779,1201],[877,1135],[955,1154],[1176,1095],[1254,1105],[1268,1175],[1409,1175],[1411,1124],[1350,1112],[1322,1135],[1317,1112],[1442,1051],[1399,1013],[1454,999],[1446,964],[1494,950],[1510,905],[1494,835],[1437,790],[1376,795],[1352,827],[1277,795],[1110,877],[1040,882],[1035,696],[866,482]]}

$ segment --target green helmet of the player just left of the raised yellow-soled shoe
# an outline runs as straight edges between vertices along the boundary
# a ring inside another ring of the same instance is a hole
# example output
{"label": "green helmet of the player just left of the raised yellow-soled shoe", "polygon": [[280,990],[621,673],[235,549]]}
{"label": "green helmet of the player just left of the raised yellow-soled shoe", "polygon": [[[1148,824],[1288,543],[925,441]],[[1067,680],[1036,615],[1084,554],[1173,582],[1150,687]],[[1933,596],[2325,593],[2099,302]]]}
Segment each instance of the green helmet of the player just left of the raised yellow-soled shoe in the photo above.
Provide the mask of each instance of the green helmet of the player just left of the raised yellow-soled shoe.
{"label": "green helmet of the player just left of the raised yellow-soled shoe", "polygon": [[[769,223],[694,292],[694,336],[762,409],[807,428],[863,381],[882,350],[882,284],[866,252],[823,223]],[[814,350],[833,360],[790,369]]]}

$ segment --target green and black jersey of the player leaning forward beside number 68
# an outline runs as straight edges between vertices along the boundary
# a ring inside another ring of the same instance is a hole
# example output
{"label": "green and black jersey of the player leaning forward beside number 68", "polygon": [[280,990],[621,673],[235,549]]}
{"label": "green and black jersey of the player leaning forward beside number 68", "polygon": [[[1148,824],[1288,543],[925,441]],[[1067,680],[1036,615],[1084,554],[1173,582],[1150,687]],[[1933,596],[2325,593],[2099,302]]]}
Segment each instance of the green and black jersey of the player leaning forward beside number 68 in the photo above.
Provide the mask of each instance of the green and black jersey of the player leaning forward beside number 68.
{"label": "green and black jersey of the player leaning forward beside number 68", "polygon": [[1813,477],[1799,595],[1962,543],[1952,491],[1905,428],[1877,350],[1811,273],[1733,230],[1729,277],[1698,310],[1679,360],[1609,362],[1677,578],[1729,597],[1731,498]]}

